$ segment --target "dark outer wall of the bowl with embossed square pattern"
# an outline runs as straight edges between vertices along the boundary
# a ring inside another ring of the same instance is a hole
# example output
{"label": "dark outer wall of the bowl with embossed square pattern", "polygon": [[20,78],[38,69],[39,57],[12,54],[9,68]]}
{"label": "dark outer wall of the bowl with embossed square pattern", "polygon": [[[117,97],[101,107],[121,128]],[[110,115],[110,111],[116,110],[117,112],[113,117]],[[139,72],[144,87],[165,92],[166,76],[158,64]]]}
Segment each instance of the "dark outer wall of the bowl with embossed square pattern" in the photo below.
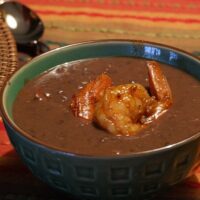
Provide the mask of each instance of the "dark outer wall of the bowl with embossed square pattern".
{"label": "dark outer wall of the bowl with embossed square pattern", "polygon": [[200,137],[143,156],[92,158],[38,145],[7,123],[6,129],[34,175],[80,199],[152,199],[159,191],[186,178],[200,159]]}

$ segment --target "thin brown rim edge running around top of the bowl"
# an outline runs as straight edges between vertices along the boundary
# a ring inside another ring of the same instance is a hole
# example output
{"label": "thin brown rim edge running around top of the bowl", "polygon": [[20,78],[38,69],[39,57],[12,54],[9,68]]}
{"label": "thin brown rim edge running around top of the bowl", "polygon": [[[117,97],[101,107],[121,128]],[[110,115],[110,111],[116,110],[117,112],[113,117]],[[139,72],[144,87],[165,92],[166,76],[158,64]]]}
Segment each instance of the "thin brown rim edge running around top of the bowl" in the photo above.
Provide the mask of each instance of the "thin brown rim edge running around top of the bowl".
{"label": "thin brown rim edge running around top of the bowl", "polygon": [[[7,115],[5,108],[4,108],[4,104],[3,104],[3,96],[5,93],[5,88],[6,86],[9,84],[10,79],[12,79],[13,77],[15,77],[21,70],[23,70],[24,68],[28,67],[31,63],[36,62],[37,60],[45,57],[48,54],[53,54],[56,51],[60,51],[62,49],[66,49],[66,48],[71,48],[71,47],[77,47],[77,46],[82,46],[82,45],[90,45],[90,44],[100,44],[100,43],[115,43],[115,42],[129,42],[129,43],[139,43],[139,44],[149,44],[149,45],[155,45],[155,46],[160,46],[163,48],[169,48],[172,50],[175,50],[179,53],[185,54],[186,56],[190,56],[191,59],[197,60],[198,62],[200,62],[200,58],[198,58],[197,56],[192,55],[191,53],[184,51],[182,49],[170,46],[170,45],[166,45],[163,43],[158,43],[158,42],[151,42],[151,41],[146,41],[146,40],[131,40],[131,39],[103,39],[103,40],[89,40],[89,41],[83,41],[83,42],[78,42],[78,43],[73,43],[73,44],[69,44],[63,47],[58,47],[56,49],[50,50],[46,53],[43,53],[39,56],[36,56],[35,58],[33,58],[31,61],[29,61],[28,63],[26,63],[25,65],[23,65],[21,68],[17,69],[12,75],[8,76],[6,81],[4,82],[2,89],[0,91],[0,116],[2,117],[3,121],[5,120],[9,126],[11,126],[14,130],[16,130],[17,134],[22,136],[25,140],[30,140],[32,143],[34,143],[34,145],[40,146],[41,148],[46,148],[50,151],[54,151],[57,153],[61,153],[67,156],[72,156],[72,157],[80,157],[80,158],[95,158],[95,159],[121,159],[121,158],[130,158],[130,157],[140,157],[140,156],[149,156],[152,154],[156,154],[156,153],[162,153],[168,150],[172,150],[178,147],[183,146],[184,144],[190,143],[192,141],[195,141],[196,139],[198,139],[200,137],[200,131],[195,133],[194,135],[192,135],[191,137],[188,137],[184,140],[181,140],[179,142],[167,145],[167,146],[163,146],[160,148],[156,148],[156,149],[150,149],[150,150],[146,150],[146,151],[140,151],[140,152],[133,152],[133,153],[129,153],[129,154],[120,154],[120,155],[87,155],[87,154],[80,154],[80,153],[73,153],[73,152],[67,152],[65,150],[63,150],[60,147],[56,147],[53,145],[49,145],[43,141],[40,141],[36,138],[33,138],[30,134],[28,134],[26,131],[24,131],[23,129],[21,129],[20,127],[18,127],[17,125],[15,125],[12,120],[10,120],[9,116]],[[9,135],[9,134],[8,134]]]}

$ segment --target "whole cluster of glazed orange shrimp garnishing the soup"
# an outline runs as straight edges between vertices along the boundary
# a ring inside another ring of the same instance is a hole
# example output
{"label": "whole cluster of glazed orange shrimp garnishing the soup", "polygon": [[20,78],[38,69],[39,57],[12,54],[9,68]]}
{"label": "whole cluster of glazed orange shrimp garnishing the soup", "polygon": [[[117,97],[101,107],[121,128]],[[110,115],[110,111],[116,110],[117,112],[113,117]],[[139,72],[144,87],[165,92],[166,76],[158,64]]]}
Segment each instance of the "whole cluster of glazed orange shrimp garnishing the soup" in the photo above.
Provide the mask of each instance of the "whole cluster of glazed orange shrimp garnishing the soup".
{"label": "whole cluster of glazed orange shrimp garnishing the soup", "polygon": [[75,116],[94,121],[114,135],[130,136],[165,113],[172,94],[158,63],[147,62],[149,89],[138,83],[112,86],[108,75],[100,75],[72,99]]}

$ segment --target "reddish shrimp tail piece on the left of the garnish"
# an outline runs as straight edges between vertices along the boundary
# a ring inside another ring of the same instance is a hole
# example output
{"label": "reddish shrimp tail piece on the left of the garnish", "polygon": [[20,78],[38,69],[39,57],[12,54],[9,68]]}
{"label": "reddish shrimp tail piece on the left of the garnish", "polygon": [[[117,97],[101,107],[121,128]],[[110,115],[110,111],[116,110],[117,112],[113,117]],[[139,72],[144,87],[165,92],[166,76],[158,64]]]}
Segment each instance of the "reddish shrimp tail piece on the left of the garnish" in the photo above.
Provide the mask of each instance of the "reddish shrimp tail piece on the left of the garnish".
{"label": "reddish shrimp tail piece on the left of the garnish", "polygon": [[101,74],[72,97],[71,108],[76,117],[91,121],[94,115],[95,103],[104,90],[111,86],[112,80],[106,74]]}

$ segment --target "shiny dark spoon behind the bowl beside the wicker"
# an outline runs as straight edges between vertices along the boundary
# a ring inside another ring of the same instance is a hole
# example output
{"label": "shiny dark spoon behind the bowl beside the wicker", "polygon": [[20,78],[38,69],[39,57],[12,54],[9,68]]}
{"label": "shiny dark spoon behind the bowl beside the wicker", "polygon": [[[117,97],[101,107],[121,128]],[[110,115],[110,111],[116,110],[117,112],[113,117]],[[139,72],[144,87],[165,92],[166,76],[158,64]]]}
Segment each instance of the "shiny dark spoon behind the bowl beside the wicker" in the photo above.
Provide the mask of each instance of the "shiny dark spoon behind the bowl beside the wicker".
{"label": "shiny dark spoon behind the bowl beside the wicker", "polygon": [[38,41],[44,33],[44,24],[35,12],[17,1],[4,0],[0,3],[0,11],[19,51],[36,56],[49,50],[47,45]]}

